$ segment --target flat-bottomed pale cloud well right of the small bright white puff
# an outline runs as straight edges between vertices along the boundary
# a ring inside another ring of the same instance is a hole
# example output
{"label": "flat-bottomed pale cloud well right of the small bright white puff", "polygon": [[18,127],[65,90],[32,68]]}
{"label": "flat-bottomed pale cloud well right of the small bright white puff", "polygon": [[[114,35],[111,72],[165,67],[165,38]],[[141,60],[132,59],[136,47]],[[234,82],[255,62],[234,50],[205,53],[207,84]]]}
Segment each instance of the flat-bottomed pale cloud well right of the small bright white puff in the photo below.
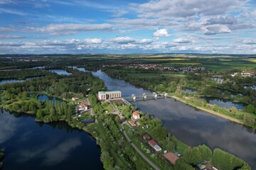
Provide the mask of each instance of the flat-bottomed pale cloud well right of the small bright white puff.
{"label": "flat-bottomed pale cloud well right of the small bright white puff", "polygon": [[205,35],[215,35],[215,34],[220,34],[220,33],[231,33],[230,28],[225,25],[220,25],[220,24],[215,24],[211,26],[206,26],[203,28],[204,34]]}

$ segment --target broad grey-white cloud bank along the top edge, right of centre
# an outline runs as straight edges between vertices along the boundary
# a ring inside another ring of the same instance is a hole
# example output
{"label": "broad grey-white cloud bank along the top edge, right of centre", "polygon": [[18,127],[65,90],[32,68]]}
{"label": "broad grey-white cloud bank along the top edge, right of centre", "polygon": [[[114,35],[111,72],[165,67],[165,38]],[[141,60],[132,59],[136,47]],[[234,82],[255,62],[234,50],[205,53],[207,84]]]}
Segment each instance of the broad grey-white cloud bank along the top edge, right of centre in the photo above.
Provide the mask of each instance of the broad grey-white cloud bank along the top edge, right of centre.
{"label": "broad grey-white cloud bank along the top edge, right of centre", "polygon": [[221,15],[227,11],[235,11],[240,6],[245,6],[245,2],[239,0],[159,0],[144,4],[132,4],[132,8],[140,13],[139,16],[147,18],[156,16],[189,17],[196,14]]}

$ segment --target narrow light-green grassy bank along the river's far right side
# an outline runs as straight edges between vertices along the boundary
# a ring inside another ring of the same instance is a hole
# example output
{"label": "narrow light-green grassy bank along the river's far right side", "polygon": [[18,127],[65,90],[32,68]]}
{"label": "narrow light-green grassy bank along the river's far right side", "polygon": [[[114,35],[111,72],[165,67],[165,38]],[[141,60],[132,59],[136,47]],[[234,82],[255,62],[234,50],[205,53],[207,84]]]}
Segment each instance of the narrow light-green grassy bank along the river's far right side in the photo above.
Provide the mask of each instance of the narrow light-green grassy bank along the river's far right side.
{"label": "narrow light-green grassy bank along the river's far right side", "polygon": [[[199,110],[201,110],[201,111],[205,111],[205,112],[210,113],[210,114],[212,114],[212,115],[216,115],[216,116],[218,116],[218,117],[220,117],[220,118],[224,118],[225,120],[230,120],[231,122],[239,123],[239,124],[241,124],[241,125],[245,125],[245,123],[243,123],[241,120],[238,120],[238,119],[236,119],[236,118],[231,118],[231,117],[228,116],[228,115],[223,115],[223,114],[221,114],[221,113],[218,113],[218,112],[215,112],[215,111],[211,111],[211,110],[209,110],[209,109],[207,109],[207,108],[202,108],[202,107],[198,107],[198,106],[192,106],[191,104],[187,103],[186,101],[184,101],[184,100],[182,100],[181,98],[178,98],[178,97],[176,97],[176,96],[169,96],[169,97],[170,97],[170,98],[174,98],[174,99],[176,99],[177,101],[181,101],[182,103],[185,103],[185,104],[187,104],[188,106],[191,106],[191,107],[193,107],[193,108],[197,108],[197,109],[199,109]],[[250,127],[250,128],[252,128],[252,127]]]}

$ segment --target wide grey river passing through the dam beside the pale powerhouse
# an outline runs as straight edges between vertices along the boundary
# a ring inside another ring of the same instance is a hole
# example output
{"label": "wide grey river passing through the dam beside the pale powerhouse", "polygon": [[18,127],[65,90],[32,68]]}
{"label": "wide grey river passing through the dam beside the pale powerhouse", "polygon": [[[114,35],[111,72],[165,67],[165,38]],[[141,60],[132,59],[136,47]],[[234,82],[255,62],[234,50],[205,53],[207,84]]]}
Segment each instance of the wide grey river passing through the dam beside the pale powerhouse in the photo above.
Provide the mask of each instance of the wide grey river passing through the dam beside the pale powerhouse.
{"label": "wide grey river passing through the dam beside the pale powerhouse", "polygon": [[[152,94],[122,79],[112,79],[107,74],[92,72],[100,77],[109,90],[122,91],[130,99],[132,94]],[[256,169],[256,134],[252,128],[230,122],[215,115],[198,111],[172,98],[137,101],[134,105],[144,113],[151,113],[162,120],[164,128],[190,146],[206,144],[211,149],[220,148],[245,160]]]}

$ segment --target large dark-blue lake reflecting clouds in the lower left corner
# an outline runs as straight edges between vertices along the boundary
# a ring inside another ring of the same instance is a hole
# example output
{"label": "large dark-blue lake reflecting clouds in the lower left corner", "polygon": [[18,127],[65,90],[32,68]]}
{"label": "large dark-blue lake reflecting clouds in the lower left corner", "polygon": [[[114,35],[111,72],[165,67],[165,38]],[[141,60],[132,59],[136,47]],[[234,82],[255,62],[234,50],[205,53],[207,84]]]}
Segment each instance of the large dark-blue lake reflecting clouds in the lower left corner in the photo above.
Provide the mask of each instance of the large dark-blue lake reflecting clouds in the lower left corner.
{"label": "large dark-blue lake reflecting clouds in the lower left corner", "polygon": [[100,147],[68,123],[36,123],[32,115],[0,111],[4,169],[103,169]]}

